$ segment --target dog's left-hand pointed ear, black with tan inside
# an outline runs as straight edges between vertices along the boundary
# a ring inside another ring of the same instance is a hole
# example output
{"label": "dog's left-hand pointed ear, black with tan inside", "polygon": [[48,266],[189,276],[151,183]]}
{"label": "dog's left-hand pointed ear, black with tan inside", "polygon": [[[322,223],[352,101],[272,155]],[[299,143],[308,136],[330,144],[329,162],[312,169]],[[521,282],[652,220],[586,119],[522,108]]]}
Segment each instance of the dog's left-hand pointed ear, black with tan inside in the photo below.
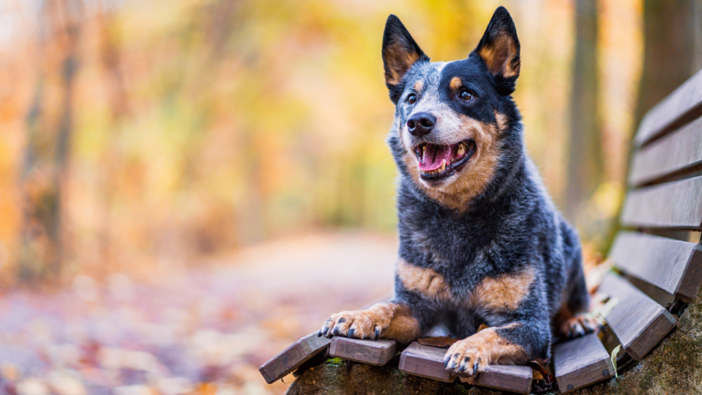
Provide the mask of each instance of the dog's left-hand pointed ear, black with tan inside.
{"label": "dog's left-hand pointed ear, black with tan inside", "polygon": [[428,62],[426,56],[395,15],[390,15],[385,22],[383,33],[383,66],[385,67],[385,85],[390,89],[390,100],[397,104],[402,91],[399,83],[402,77],[417,62]]}

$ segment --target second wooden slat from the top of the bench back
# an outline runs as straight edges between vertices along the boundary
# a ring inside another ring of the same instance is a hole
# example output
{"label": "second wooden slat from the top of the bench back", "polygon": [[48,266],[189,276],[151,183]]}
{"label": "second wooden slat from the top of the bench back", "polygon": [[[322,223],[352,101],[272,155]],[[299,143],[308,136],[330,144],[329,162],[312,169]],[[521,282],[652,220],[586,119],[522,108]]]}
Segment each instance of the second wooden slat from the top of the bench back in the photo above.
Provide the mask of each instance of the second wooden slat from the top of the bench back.
{"label": "second wooden slat from the top of the bench back", "polygon": [[698,167],[702,167],[702,118],[634,153],[629,183],[640,186]]}

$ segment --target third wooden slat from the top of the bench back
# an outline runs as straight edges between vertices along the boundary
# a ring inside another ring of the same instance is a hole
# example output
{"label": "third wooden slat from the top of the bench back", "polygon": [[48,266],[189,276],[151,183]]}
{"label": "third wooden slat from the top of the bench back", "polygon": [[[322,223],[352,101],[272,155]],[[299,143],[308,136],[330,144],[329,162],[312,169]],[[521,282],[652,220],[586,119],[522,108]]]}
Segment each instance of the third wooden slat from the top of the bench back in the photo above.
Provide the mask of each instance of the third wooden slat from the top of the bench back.
{"label": "third wooden slat from the top of the bench back", "polygon": [[702,176],[632,190],[621,223],[639,228],[702,230]]}

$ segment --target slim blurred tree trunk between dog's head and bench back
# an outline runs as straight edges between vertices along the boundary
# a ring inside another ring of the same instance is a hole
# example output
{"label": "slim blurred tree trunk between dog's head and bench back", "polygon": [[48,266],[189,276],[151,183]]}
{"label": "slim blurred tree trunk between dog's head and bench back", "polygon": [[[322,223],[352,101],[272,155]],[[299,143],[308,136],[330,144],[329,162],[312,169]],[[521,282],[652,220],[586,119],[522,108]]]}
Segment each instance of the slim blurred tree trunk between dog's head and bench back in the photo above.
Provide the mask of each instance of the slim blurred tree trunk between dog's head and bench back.
{"label": "slim blurred tree trunk between dog's head and bench back", "polygon": [[583,203],[604,177],[597,122],[597,1],[576,0],[575,18],[565,214],[577,223]]}

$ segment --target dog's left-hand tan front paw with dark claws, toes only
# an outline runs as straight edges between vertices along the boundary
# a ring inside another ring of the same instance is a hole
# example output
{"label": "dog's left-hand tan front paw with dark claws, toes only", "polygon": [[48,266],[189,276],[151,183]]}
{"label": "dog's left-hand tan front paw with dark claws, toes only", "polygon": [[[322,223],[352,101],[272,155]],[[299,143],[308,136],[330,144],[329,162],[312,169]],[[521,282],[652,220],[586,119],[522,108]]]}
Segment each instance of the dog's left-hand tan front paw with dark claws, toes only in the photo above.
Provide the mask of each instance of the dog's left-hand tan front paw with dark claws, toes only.
{"label": "dog's left-hand tan front paw with dark claws, toes only", "polygon": [[390,319],[371,310],[342,311],[329,317],[317,335],[377,340],[388,325]]}

